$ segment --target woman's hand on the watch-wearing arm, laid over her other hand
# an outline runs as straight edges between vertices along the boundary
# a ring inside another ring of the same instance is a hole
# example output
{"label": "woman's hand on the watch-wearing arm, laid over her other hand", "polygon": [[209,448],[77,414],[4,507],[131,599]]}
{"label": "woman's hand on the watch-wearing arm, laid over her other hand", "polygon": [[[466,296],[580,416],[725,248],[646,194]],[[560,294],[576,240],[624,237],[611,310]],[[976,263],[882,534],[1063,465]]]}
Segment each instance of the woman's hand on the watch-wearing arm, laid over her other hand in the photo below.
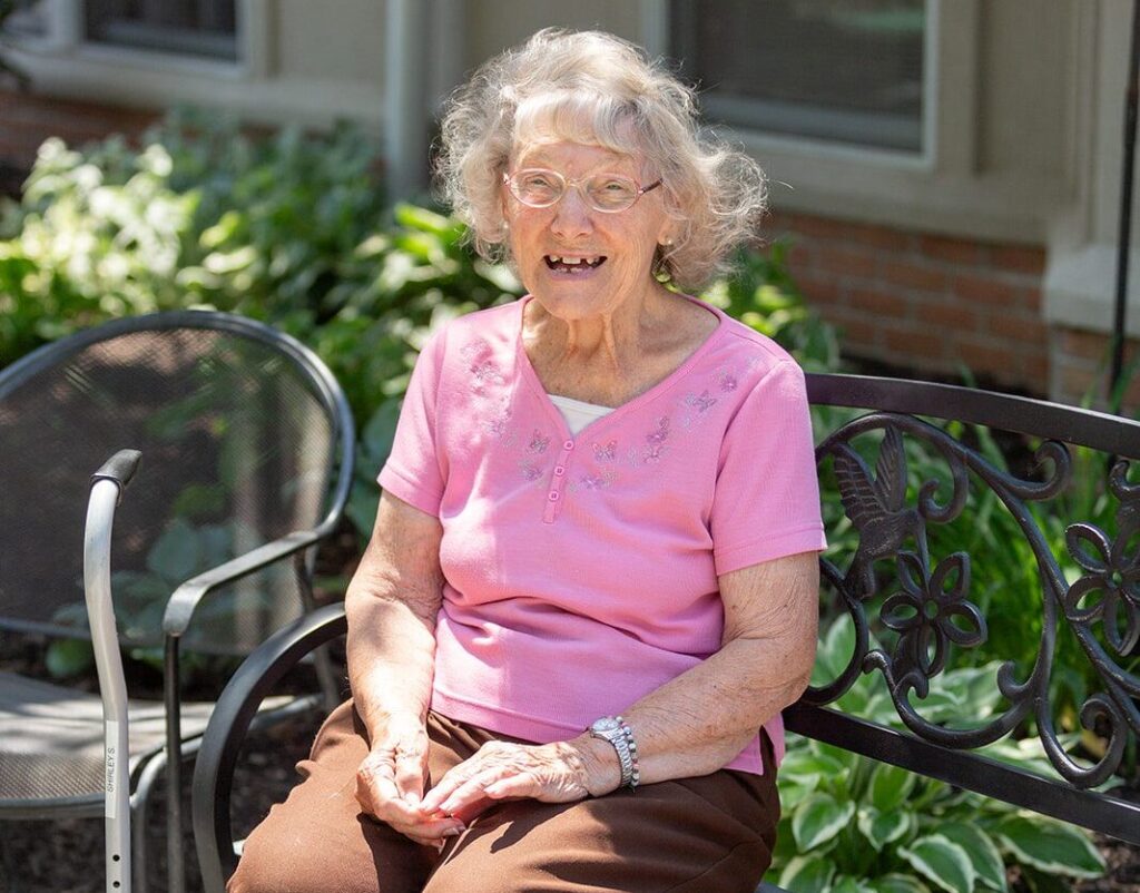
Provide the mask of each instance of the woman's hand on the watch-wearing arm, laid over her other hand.
{"label": "woman's hand on the watch-wearing arm, laid over her other hand", "polygon": [[497,801],[530,797],[571,803],[606,794],[620,780],[612,748],[588,736],[548,745],[488,741],[440,779],[423,798],[422,809],[470,821]]}

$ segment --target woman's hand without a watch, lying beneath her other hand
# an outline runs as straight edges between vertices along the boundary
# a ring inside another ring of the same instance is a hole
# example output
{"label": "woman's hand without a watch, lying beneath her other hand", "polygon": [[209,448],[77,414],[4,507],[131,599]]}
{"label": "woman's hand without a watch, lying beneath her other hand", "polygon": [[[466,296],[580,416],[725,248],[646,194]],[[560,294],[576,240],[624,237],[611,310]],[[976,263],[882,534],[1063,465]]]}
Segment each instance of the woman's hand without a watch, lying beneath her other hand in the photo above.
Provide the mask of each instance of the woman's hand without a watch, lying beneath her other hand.
{"label": "woman's hand without a watch, lying beneath her other hand", "polygon": [[423,809],[427,731],[418,716],[392,716],[357,769],[356,797],[369,815],[425,846],[439,849],[463,822]]}

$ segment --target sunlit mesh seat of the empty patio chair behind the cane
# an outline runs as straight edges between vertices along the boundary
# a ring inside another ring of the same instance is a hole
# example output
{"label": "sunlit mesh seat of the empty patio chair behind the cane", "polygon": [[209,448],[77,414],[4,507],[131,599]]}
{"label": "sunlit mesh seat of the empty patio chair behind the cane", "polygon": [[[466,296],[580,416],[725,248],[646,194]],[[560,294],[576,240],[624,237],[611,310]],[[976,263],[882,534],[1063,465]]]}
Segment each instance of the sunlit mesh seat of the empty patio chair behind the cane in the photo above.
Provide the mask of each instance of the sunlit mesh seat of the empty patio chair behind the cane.
{"label": "sunlit mesh seat of the empty patio chair behind the cane", "polygon": [[[182,704],[182,733],[202,733],[212,703]],[[161,703],[131,701],[130,768],[162,748]],[[0,672],[0,803],[104,804],[103,704],[97,695]]]}

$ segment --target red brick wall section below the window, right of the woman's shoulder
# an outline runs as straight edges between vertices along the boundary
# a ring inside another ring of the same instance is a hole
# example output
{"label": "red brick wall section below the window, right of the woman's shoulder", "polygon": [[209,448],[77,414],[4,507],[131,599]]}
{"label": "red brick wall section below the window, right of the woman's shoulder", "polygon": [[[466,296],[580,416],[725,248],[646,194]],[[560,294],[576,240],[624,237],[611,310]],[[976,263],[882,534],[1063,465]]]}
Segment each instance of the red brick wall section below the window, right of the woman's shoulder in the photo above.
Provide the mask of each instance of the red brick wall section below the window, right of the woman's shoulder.
{"label": "red brick wall section below the window, right of the woman's shoulder", "polygon": [[1048,391],[1043,249],[806,214],[776,213],[766,229],[793,241],[791,273],[842,330],[847,356],[938,376],[964,365],[1001,387]]}

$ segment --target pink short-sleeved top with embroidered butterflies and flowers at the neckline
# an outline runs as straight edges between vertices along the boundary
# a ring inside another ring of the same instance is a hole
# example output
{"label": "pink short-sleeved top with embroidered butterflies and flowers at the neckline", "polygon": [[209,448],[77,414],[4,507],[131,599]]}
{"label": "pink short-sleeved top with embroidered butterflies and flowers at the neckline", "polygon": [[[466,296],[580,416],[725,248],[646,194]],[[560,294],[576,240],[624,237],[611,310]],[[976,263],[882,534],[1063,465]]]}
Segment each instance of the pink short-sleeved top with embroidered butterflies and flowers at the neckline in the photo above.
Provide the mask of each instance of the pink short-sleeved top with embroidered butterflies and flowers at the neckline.
{"label": "pink short-sleeved top with embroidered butterflies and flowers at the neckline", "polygon": [[[720,646],[717,576],[824,546],[799,366],[719,320],[572,437],[522,347],[528,299],[424,348],[381,486],[440,519],[432,708],[546,742]],[[766,730],[783,753],[780,717]],[[731,769],[763,772],[758,739]]]}

